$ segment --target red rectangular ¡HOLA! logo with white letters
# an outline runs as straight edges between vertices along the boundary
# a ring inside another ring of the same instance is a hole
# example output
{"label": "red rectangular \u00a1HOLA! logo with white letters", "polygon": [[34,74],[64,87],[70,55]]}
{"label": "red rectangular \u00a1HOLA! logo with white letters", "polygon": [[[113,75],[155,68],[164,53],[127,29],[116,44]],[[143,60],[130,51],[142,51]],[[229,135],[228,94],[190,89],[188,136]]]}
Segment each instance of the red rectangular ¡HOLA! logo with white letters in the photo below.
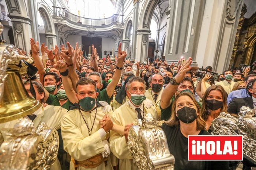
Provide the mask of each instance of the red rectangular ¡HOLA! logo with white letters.
{"label": "red rectangular \u00a1HOLA! logo with white letters", "polygon": [[188,136],[188,160],[243,159],[243,136]]}

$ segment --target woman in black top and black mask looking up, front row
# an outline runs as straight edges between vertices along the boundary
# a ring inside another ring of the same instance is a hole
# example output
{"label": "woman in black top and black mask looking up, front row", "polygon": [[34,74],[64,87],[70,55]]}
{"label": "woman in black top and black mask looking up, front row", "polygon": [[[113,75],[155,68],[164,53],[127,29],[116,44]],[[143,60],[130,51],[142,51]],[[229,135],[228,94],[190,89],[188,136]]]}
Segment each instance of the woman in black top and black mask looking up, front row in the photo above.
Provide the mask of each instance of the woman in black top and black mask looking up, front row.
{"label": "woman in black top and black mask looking up, front row", "polygon": [[180,93],[172,105],[171,117],[162,125],[175,170],[229,169],[228,161],[188,161],[188,135],[211,135],[200,116],[200,107],[189,93]]}

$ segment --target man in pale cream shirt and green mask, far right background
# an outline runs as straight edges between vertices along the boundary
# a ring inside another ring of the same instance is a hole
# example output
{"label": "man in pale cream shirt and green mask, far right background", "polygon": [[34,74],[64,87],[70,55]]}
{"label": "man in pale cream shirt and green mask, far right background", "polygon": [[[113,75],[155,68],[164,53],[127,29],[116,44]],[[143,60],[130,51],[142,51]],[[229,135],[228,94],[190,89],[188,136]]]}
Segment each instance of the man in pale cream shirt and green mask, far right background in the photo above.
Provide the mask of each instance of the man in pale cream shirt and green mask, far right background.
{"label": "man in pale cream shirt and green mask, far right background", "polygon": [[235,84],[234,81],[232,81],[233,79],[233,74],[231,72],[231,70],[225,70],[223,72],[224,76],[225,76],[225,80],[223,81],[219,81],[217,82],[215,85],[220,85],[223,87],[223,89],[225,90],[225,92],[227,92],[227,94],[229,94],[231,92],[231,90],[233,89],[233,86]]}

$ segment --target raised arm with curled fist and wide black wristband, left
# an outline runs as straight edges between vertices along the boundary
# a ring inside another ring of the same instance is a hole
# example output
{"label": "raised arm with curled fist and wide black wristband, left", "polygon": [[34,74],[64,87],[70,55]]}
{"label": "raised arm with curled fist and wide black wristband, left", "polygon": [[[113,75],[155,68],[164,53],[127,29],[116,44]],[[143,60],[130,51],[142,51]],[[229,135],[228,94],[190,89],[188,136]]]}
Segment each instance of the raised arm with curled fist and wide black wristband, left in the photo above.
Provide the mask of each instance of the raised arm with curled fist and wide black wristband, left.
{"label": "raised arm with curled fist and wide black wristband, left", "polygon": [[67,65],[63,61],[59,60],[53,65],[54,68],[60,71],[62,82],[64,85],[65,92],[68,96],[68,100],[71,103],[78,103],[78,98],[76,97],[76,92],[73,89],[72,81],[70,77],[65,74],[67,72]]}

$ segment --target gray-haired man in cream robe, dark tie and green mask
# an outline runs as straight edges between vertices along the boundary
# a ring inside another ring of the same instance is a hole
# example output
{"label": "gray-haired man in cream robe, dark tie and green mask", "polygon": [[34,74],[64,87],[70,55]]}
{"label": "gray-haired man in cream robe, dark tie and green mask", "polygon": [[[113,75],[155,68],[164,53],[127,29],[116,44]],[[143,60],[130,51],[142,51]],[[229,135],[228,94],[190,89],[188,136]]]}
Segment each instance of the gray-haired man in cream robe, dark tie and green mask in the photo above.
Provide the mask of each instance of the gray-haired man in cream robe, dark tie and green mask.
{"label": "gray-haired man in cream robe, dark tie and green mask", "polygon": [[[129,100],[114,111],[112,115],[114,124],[130,127],[131,123],[135,123],[136,119],[143,119],[147,113],[151,113],[157,119],[157,111],[153,103],[145,97],[145,90],[146,83],[142,78],[129,79],[126,91]],[[125,134],[128,134],[129,128],[126,127],[125,130]],[[127,135],[111,131],[109,146],[114,156],[119,159],[119,169],[137,170],[127,147],[127,138]]]}

